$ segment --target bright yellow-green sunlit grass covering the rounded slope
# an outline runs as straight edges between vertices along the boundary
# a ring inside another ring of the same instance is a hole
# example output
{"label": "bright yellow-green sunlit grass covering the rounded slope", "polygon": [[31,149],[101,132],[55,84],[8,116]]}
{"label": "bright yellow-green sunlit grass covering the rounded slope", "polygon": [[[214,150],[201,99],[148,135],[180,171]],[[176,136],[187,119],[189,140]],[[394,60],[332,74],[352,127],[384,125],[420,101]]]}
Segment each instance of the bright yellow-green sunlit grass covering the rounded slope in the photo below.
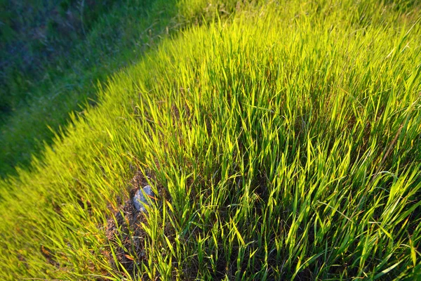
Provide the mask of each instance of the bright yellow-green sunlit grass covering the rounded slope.
{"label": "bright yellow-green sunlit grass covering the rounded slope", "polygon": [[420,10],[370,2],[243,8],[114,75],[0,182],[0,276],[131,279],[106,228],[139,169],[136,277],[420,277]]}

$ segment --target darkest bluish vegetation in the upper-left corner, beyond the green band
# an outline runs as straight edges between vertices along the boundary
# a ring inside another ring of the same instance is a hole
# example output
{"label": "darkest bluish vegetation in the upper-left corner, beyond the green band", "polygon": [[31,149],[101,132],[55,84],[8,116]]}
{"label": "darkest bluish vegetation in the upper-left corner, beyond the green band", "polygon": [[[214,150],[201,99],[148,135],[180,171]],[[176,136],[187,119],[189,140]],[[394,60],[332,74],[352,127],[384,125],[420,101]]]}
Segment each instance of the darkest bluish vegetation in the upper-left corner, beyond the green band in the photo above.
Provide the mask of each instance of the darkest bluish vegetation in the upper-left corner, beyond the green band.
{"label": "darkest bluish vegetation in the upper-left corner, beyond the green band", "polygon": [[[39,72],[46,63],[64,64],[69,49],[112,4],[113,0],[0,1],[0,82],[6,88],[1,89],[2,112],[25,100],[25,84],[42,78]],[[4,95],[8,92],[12,93]]]}

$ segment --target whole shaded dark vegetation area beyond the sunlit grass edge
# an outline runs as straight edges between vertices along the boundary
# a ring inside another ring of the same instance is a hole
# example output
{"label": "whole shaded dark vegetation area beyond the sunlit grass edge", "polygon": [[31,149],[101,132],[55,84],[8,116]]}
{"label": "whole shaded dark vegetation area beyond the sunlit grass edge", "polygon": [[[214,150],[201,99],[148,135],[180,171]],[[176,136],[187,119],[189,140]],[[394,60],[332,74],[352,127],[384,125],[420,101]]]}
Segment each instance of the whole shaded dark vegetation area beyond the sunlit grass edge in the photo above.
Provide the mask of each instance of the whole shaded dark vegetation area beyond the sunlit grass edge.
{"label": "whole shaded dark vegetation area beyond the sunlit grass edge", "polygon": [[[140,36],[147,33],[150,18],[163,25],[169,20],[156,17],[147,1],[131,1],[130,10],[116,6],[112,11],[88,3],[92,1],[26,2],[2,4],[10,12],[2,13],[1,20],[6,23],[1,26],[1,176],[14,173],[16,164],[29,164],[33,153],[39,155],[43,141],[51,143],[53,137],[48,126],[57,130],[67,122],[68,112],[80,112],[86,98],[95,98],[98,79],[130,63],[128,57],[138,58],[152,40]],[[106,16],[98,18],[98,11]],[[136,34],[121,31],[130,25]],[[152,36],[162,29],[158,26]],[[128,38],[121,38],[125,34]],[[133,44],[138,44],[136,50]]]}

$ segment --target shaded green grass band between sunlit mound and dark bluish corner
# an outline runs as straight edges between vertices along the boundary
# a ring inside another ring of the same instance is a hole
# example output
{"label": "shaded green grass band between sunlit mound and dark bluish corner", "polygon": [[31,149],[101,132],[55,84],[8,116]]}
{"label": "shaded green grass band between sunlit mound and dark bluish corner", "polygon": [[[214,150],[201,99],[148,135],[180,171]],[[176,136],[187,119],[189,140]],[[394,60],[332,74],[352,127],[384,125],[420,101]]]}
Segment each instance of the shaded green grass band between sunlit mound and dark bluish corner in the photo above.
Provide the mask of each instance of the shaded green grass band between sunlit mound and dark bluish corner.
{"label": "shaded green grass band between sunlit mound and dark bluish corner", "polygon": [[[140,34],[149,25],[147,20],[150,22],[158,18],[154,15],[156,11],[151,11],[153,2],[130,1],[128,5],[116,7],[97,22],[80,44],[64,42],[63,44],[69,45],[70,50],[67,52],[54,53],[51,61],[47,58],[36,60],[34,55],[32,67],[35,69],[32,72],[6,73],[6,85],[2,87],[5,92],[2,91],[1,94],[11,96],[9,99],[12,100],[13,111],[3,117],[0,123],[1,176],[12,174],[17,164],[27,166],[31,155],[40,155],[39,152],[44,148],[43,142],[51,143],[53,137],[48,126],[53,130],[64,126],[69,117],[68,112],[81,110],[78,105],[86,103],[86,98],[95,98],[98,79],[104,80],[107,74],[112,74],[119,67],[131,62],[125,57],[130,56],[134,60],[138,57],[142,50],[138,48],[138,52],[135,52],[128,47],[129,41],[136,37],[130,32],[133,30]],[[41,7],[41,3],[36,5],[40,10],[44,8]],[[123,15],[127,15],[129,11],[129,15],[124,18]],[[152,15],[148,18],[147,13],[151,12]],[[170,18],[171,15],[169,18],[162,17],[164,25],[168,24]],[[133,29],[122,32],[121,25],[132,25]],[[154,35],[159,32],[161,30],[154,30]],[[121,38],[121,35],[127,35],[127,39]],[[145,37],[141,36],[136,39],[138,44],[145,41]],[[27,42],[27,45],[31,44],[31,41]],[[21,63],[15,61],[15,64]]]}

